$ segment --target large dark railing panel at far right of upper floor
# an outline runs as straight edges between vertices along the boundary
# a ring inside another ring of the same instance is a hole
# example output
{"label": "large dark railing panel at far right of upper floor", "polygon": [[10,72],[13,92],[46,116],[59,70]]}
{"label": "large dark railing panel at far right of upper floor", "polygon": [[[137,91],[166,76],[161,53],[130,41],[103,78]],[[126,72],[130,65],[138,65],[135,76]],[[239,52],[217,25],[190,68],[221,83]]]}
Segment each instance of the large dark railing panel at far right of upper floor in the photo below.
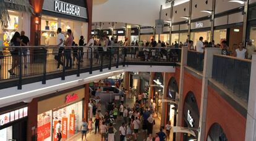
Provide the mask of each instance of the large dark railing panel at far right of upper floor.
{"label": "large dark railing panel at far right of upper floor", "polygon": [[248,102],[251,60],[213,55],[212,78]]}

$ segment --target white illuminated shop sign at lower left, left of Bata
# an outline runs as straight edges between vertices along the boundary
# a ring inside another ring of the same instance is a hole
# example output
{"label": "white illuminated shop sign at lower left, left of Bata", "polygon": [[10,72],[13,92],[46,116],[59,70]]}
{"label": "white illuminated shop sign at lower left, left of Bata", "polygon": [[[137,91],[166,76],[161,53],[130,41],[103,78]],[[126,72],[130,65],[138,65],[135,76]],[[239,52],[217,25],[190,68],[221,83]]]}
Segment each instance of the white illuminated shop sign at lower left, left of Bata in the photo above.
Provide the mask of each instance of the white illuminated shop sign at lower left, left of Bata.
{"label": "white illuminated shop sign at lower left, left of Bata", "polygon": [[0,115],[0,126],[4,124],[11,123],[20,118],[25,118],[28,116],[28,107],[20,108],[19,110],[14,110],[9,113],[4,113]]}

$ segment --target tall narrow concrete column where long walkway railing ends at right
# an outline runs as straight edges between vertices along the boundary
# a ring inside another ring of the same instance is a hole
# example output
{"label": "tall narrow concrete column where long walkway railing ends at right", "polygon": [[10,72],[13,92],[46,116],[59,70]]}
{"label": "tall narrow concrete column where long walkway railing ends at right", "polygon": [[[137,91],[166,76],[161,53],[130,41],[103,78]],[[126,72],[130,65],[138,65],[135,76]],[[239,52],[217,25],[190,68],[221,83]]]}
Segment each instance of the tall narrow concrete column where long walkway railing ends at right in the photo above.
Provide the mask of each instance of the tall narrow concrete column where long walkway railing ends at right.
{"label": "tall narrow concrete column where long walkway railing ends at right", "polygon": [[[178,115],[177,126],[182,126],[182,112],[183,112],[183,84],[184,84],[184,66],[187,65],[187,47],[182,47],[181,51],[181,72],[179,76],[179,103],[178,103]],[[176,135],[176,140],[181,140],[181,133]]]}

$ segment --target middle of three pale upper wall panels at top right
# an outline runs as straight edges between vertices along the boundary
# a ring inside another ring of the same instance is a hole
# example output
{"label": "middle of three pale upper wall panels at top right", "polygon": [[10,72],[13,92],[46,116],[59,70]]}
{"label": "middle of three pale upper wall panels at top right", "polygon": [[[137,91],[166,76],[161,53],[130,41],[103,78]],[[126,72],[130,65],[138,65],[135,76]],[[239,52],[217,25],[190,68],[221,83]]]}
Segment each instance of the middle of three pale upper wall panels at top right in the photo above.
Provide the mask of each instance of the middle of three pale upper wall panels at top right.
{"label": "middle of three pale upper wall panels at top right", "polygon": [[[217,0],[218,1],[218,0]],[[192,1],[192,20],[200,17],[205,17],[211,14],[208,14],[206,12],[201,12],[202,10],[212,10],[212,0],[208,0],[206,3],[206,0],[193,0]],[[197,5],[197,7],[195,7]]]}

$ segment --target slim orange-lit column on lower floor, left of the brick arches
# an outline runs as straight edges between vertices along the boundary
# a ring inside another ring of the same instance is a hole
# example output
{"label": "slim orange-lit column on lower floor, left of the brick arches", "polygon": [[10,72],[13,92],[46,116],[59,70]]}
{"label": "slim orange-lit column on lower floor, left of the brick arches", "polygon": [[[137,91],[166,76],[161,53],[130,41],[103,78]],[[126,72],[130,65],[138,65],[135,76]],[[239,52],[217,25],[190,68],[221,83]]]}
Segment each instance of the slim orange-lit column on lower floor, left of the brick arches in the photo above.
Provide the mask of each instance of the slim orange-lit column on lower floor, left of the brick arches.
{"label": "slim orange-lit column on lower floor, left of the brick arches", "polygon": [[[164,73],[163,76],[163,99],[167,99],[167,89],[168,89],[168,82],[166,83],[166,73]],[[168,102],[163,102],[162,103],[162,108],[161,108],[161,127],[164,127],[165,121],[166,121],[166,108],[167,108]]]}

